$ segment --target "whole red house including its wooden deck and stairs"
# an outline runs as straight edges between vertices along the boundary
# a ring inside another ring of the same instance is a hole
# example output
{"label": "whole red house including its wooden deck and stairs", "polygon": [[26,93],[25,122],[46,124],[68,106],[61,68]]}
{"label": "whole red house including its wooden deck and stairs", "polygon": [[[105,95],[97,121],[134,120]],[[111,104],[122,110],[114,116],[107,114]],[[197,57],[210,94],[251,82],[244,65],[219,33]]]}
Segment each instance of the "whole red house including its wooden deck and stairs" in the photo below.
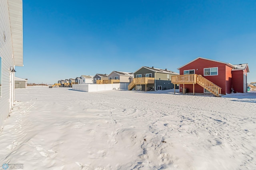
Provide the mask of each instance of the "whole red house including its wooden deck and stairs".
{"label": "whole red house including its wooden deck and stairs", "polygon": [[173,83],[180,84],[180,92],[190,93],[231,93],[232,89],[246,93],[248,64],[232,65],[230,63],[198,57],[178,68],[179,76],[174,76]]}

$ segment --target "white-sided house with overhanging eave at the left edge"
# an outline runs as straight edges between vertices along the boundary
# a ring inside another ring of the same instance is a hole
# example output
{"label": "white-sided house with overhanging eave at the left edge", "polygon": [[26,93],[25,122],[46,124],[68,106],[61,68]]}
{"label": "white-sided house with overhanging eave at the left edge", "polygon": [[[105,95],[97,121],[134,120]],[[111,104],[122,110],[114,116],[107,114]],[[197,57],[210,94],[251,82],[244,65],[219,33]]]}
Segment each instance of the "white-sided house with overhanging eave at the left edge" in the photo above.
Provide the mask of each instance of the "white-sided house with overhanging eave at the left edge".
{"label": "white-sided house with overhanging eave at the left edge", "polygon": [[23,66],[22,0],[0,0],[0,128],[13,107],[16,66]]}

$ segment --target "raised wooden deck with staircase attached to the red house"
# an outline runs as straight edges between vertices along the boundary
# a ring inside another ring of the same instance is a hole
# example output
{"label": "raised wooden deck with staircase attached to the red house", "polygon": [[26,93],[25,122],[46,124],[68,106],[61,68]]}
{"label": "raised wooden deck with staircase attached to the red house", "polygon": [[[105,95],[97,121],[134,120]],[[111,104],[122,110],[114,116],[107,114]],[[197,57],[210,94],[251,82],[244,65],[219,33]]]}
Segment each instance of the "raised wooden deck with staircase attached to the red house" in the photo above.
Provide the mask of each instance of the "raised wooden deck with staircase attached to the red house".
{"label": "raised wooden deck with staircase attached to the red house", "polygon": [[[193,94],[194,94],[194,85],[198,84],[204,89],[208,90],[210,93],[220,97],[221,88],[208,79],[204,78],[202,75],[190,74],[190,75],[174,75],[172,76],[172,83],[174,84],[193,84]],[[184,86],[183,86],[184,87]],[[175,93],[175,92],[174,92]],[[184,88],[183,88],[184,93]]]}

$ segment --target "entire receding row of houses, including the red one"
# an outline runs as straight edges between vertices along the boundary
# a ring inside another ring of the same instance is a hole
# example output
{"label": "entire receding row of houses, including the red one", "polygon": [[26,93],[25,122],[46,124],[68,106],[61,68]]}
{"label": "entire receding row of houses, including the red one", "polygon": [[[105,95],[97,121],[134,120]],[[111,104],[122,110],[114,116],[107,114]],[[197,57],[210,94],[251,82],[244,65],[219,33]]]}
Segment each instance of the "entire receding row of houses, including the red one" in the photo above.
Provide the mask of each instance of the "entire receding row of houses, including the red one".
{"label": "entire receding row of houses, including the red one", "polygon": [[112,71],[94,77],[81,75],[76,79],[58,81],[59,85],[129,83],[128,90],[155,91],[179,89],[183,93],[246,93],[247,63],[230,63],[198,57],[178,68],[180,73],[168,69],[142,66],[131,72]]}

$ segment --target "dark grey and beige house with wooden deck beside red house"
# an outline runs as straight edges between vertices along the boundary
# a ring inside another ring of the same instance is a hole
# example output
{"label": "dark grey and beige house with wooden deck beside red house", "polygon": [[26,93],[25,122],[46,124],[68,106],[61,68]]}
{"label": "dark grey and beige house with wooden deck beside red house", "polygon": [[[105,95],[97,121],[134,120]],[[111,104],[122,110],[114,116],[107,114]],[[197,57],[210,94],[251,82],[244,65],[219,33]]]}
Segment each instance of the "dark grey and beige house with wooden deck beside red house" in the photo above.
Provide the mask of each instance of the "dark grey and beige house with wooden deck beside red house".
{"label": "dark grey and beige house with wooden deck beside red house", "polygon": [[[128,85],[128,89],[151,91],[173,89],[174,84],[171,82],[173,75],[179,75],[168,69],[159,69],[154,67],[142,66],[135,71],[133,81]],[[175,87],[178,88],[178,87]]]}

